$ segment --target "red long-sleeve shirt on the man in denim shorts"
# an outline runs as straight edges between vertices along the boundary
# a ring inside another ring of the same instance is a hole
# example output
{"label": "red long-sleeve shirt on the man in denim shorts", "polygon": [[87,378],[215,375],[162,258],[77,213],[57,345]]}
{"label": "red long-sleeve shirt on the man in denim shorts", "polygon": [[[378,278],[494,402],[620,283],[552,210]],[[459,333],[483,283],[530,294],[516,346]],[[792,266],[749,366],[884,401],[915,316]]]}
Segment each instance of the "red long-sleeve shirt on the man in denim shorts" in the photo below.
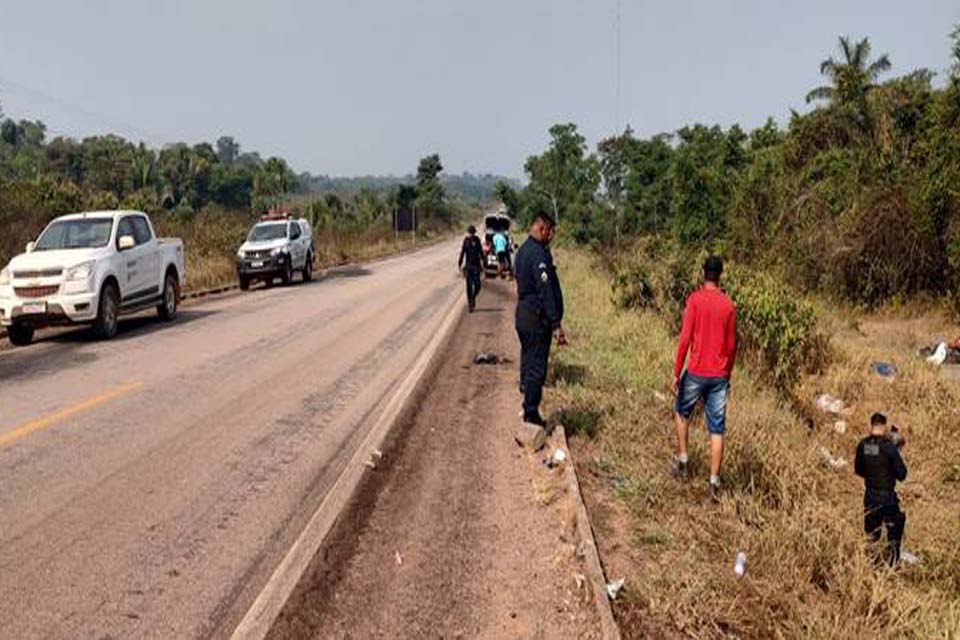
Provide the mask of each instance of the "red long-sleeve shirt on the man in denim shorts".
{"label": "red long-sleeve shirt on the man in denim shorts", "polygon": [[705,378],[729,378],[737,358],[736,312],[720,289],[704,285],[687,298],[673,374],[687,371]]}

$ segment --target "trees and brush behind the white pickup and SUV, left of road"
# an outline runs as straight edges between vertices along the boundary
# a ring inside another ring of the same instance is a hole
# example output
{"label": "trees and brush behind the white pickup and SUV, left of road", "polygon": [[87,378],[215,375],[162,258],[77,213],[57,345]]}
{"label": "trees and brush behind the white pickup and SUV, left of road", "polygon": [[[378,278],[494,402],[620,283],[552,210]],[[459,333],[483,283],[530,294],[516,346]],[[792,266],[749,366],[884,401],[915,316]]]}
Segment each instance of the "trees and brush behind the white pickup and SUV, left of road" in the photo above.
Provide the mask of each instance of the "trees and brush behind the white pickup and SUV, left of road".
{"label": "trees and brush behind the white pickup and SUV, left of road", "polygon": [[405,177],[331,178],[296,174],[229,136],[161,149],[116,135],[48,139],[44,123],[0,110],[0,266],[58,215],[123,207],[184,239],[188,285],[202,288],[235,277],[237,247],[267,209],[294,206],[305,215],[325,266],[406,246],[393,232],[398,210],[416,208],[419,240],[447,233],[491,199],[496,181],[445,175],[436,154]]}

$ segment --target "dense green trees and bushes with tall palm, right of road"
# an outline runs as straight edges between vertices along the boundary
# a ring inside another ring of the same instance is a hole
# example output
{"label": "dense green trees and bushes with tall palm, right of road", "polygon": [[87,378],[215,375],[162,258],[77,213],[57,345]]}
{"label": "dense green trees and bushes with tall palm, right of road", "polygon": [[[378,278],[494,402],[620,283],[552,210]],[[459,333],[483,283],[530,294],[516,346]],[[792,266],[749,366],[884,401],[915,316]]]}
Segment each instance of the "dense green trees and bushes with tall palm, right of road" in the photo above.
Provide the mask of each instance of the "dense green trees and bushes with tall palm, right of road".
{"label": "dense green trees and bushes with tall palm, right of road", "polygon": [[[576,125],[549,129],[528,184],[496,187],[521,220],[558,218],[579,243],[655,236],[721,252],[810,290],[876,304],[960,292],[960,26],[948,77],[884,78],[890,58],[839,39],[813,108],[752,131],[693,124],[591,152]],[[958,296],[960,297],[960,296]]]}

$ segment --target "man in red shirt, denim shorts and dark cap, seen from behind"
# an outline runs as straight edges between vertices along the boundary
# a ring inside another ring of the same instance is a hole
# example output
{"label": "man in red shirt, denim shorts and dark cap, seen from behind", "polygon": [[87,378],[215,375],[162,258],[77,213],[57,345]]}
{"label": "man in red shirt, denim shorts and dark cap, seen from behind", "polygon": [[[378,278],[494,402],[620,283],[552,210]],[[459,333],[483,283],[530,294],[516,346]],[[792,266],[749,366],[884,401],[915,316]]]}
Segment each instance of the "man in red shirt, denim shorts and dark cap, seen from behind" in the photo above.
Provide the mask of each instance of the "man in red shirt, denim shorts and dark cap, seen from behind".
{"label": "man in red shirt, denim shorts and dark cap, seen from behind", "polygon": [[703,263],[703,286],[687,298],[673,366],[673,392],[677,396],[675,474],[683,479],[688,475],[687,423],[697,402],[703,401],[710,433],[710,497],[714,500],[720,497],[727,393],[737,357],[736,313],[733,302],[720,290],[722,273],[723,261],[718,256],[710,256]]}

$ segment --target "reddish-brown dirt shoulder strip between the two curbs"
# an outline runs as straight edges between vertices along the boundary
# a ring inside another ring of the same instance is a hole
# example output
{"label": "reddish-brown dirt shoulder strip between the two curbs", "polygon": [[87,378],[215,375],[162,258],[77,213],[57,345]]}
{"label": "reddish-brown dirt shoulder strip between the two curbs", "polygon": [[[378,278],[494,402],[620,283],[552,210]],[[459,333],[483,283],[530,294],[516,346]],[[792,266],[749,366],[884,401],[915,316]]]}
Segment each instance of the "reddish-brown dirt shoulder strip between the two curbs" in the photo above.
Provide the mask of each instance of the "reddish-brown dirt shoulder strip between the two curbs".
{"label": "reddish-brown dirt shoulder strip between the two curbs", "polygon": [[592,638],[562,469],[512,439],[512,287],[488,283],[414,416],[318,553],[272,638]]}

